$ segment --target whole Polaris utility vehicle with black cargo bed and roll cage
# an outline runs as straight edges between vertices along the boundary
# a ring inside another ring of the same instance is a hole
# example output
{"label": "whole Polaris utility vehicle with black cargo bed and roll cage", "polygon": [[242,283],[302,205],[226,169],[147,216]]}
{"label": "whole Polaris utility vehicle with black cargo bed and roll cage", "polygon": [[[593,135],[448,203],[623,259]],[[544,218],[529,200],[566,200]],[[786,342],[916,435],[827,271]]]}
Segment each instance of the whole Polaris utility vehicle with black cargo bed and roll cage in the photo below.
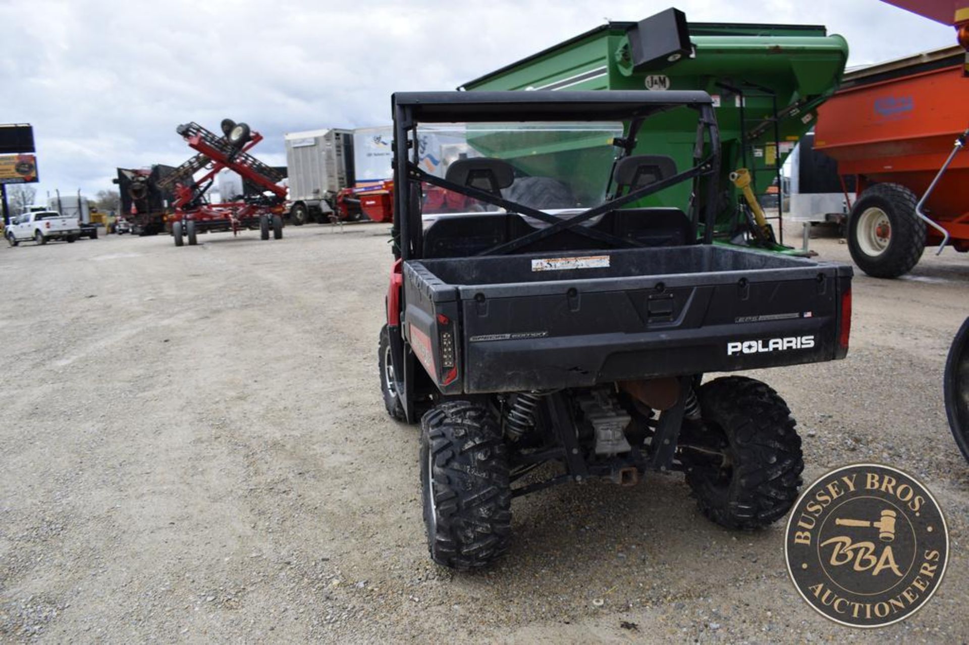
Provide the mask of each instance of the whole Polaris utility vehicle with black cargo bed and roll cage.
{"label": "whole Polaris utility vehicle with black cargo bed and roll cage", "polygon": [[[712,243],[731,169],[710,97],[397,93],[392,107],[380,376],[391,416],[421,423],[431,558],[484,566],[508,548],[513,498],[593,477],[683,471],[718,524],[783,516],[803,468],[787,405],[703,374],[843,358],[852,269]],[[696,115],[692,168],[630,154],[672,110]],[[684,181],[683,209],[648,205]]]}

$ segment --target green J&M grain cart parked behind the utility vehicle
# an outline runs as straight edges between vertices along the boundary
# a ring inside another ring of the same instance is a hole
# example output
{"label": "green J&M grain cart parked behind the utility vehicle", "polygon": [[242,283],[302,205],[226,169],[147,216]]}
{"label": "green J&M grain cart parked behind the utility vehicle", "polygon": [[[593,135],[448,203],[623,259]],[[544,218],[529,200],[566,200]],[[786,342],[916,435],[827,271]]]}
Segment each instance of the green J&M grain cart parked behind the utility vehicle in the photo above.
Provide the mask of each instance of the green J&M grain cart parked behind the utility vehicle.
{"label": "green J&M grain cart parked behind the utility vehicle", "polygon": [[[640,22],[600,25],[458,89],[704,90],[714,98],[722,145],[717,239],[793,253],[782,246],[780,169],[837,88],[847,58],[844,38],[828,36],[823,26],[687,23],[671,9]],[[666,155],[678,169],[689,168],[695,135],[696,116],[672,110],[643,125],[635,154]],[[542,174],[543,166],[569,164],[580,174],[588,153],[577,142],[571,149],[533,151],[534,158],[520,158],[516,166]],[[775,213],[767,219],[778,220],[776,240],[772,231],[769,239],[760,235],[756,209],[732,181],[731,173],[744,168],[754,199]],[[679,184],[637,205],[687,203],[690,191],[688,183]]]}

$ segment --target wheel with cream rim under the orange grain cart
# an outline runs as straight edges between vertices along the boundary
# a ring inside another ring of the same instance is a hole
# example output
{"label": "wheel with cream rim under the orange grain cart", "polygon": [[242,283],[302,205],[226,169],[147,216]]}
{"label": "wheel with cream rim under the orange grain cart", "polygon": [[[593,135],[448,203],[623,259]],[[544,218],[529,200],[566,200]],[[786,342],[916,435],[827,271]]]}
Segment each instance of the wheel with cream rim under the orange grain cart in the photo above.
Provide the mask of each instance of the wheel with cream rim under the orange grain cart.
{"label": "wheel with cream rim under the orange grain cart", "polygon": [[848,218],[848,249],[874,278],[897,278],[912,270],[925,250],[925,223],[916,215],[915,193],[899,184],[875,184],[861,193]]}

